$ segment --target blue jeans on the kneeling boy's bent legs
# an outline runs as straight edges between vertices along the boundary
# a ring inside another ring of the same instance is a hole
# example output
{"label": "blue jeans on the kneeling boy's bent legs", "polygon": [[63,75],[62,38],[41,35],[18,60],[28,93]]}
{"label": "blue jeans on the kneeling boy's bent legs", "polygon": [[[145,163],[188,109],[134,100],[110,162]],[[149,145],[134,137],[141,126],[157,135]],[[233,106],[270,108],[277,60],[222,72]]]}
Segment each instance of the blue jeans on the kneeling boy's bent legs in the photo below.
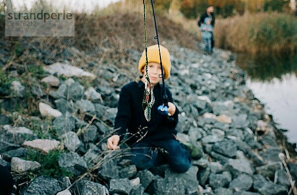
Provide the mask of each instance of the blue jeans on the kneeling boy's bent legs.
{"label": "blue jeans on the kneeling boy's bent legs", "polygon": [[174,171],[184,173],[192,164],[191,155],[177,140],[140,142],[132,147],[132,153],[132,163],[140,170],[167,162]]}

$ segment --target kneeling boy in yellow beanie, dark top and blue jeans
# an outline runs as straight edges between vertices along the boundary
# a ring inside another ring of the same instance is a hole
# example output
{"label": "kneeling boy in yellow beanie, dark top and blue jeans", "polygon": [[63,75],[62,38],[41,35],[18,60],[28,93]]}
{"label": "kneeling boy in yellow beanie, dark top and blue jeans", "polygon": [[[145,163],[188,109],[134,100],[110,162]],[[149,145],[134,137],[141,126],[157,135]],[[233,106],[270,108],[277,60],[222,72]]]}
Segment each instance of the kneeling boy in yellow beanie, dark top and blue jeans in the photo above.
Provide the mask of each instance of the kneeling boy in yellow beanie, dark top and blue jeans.
{"label": "kneeling boy in yellow beanie, dark top and blue jeans", "polygon": [[[169,51],[160,46],[164,79],[170,76],[171,62]],[[139,60],[138,69],[143,74],[141,80],[126,84],[120,93],[118,112],[115,118],[115,135],[107,139],[109,149],[118,149],[120,136],[126,133],[133,135],[127,141],[134,154],[131,159],[138,169],[149,169],[167,162],[176,172],[186,172],[192,163],[191,156],[184,146],[176,140],[175,127],[178,123],[178,109],[172,103],[172,95],[166,88],[168,96],[168,112],[172,120],[157,112],[162,102],[161,67],[158,45],[148,47],[148,75],[153,86],[155,102],[150,110],[150,121],[147,121],[142,108],[145,91],[145,51]],[[151,149],[151,148],[156,149]],[[159,148],[159,149],[157,149]],[[161,149],[160,149],[161,148]]]}

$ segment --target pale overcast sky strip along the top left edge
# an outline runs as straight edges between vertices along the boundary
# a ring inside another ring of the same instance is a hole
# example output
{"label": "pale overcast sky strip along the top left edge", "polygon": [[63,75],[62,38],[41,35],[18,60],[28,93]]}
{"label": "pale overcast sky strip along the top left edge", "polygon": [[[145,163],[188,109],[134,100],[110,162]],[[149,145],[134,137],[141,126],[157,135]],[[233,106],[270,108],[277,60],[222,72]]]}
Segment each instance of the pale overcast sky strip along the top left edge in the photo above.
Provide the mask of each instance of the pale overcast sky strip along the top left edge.
{"label": "pale overcast sky strip along the top left edge", "polygon": [[[0,2],[3,0],[0,0]],[[23,7],[24,4],[27,8],[31,8],[32,5],[39,0],[11,0],[13,7],[18,10]],[[120,0],[45,0],[55,7],[64,7],[66,5],[70,10],[75,10],[77,12],[81,11],[92,11],[96,6],[106,7],[108,4],[112,2],[117,2]]]}

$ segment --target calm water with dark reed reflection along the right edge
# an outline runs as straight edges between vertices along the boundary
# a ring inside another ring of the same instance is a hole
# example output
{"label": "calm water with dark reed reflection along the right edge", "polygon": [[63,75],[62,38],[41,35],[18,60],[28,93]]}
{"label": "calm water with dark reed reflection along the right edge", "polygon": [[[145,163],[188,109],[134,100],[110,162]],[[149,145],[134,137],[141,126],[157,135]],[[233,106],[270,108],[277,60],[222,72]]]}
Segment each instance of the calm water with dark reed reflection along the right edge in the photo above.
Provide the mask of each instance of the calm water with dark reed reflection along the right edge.
{"label": "calm water with dark reed reflection along the right edge", "polygon": [[237,65],[247,71],[247,87],[265,104],[278,127],[286,129],[289,142],[297,143],[297,55],[238,55]]}

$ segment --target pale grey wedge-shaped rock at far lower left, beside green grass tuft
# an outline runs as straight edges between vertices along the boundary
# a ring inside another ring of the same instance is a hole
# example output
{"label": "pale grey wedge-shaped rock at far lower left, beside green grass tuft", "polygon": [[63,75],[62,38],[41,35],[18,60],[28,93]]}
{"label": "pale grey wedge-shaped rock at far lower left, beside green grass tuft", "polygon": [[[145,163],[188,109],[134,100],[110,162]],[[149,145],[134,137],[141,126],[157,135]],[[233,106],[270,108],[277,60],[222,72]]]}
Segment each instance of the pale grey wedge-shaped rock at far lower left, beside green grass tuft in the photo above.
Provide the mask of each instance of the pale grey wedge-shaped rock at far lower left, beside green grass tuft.
{"label": "pale grey wedge-shaped rock at far lower left, beside green grass tuft", "polygon": [[16,173],[23,173],[29,170],[38,169],[41,167],[37,161],[23,160],[18,157],[11,158],[11,171]]}

